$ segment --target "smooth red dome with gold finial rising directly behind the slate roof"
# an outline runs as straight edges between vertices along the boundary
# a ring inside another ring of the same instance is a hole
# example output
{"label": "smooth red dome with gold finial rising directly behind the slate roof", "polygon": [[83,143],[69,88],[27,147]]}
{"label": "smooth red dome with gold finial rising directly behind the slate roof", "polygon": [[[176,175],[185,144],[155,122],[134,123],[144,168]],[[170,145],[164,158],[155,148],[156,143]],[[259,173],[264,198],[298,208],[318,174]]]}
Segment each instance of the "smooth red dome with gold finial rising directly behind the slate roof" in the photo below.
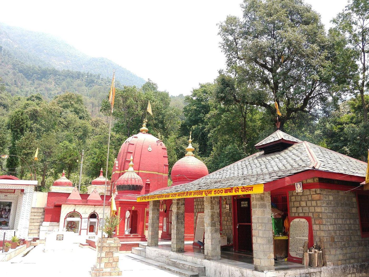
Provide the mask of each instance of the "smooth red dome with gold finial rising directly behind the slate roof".
{"label": "smooth red dome with gold finial rising directly behind the slate roof", "polygon": [[173,185],[189,183],[209,174],[206,165],[196,158],[192,152],[195,148],[191,144],[191,133],[188,142],[189,145],[186,148],[186,155],[173,165],[172,172],[170,172]]}

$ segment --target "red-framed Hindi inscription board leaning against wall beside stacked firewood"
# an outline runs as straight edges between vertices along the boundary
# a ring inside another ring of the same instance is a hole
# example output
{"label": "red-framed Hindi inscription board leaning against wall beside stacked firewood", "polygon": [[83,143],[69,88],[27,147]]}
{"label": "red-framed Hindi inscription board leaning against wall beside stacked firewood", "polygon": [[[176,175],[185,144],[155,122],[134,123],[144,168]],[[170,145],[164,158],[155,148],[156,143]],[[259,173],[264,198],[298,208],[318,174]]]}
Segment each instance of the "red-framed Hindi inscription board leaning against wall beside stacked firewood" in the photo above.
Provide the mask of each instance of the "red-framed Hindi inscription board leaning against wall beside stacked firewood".
{"label": "red-framed Hindi inscription board leaning against wall beside stacked firewood", "polygon": [[288,241],[288,261],[302,262],[304,243],[308,241],[308,247],[313,246],[313,226],[310,216],[291,216],[290,233]]}

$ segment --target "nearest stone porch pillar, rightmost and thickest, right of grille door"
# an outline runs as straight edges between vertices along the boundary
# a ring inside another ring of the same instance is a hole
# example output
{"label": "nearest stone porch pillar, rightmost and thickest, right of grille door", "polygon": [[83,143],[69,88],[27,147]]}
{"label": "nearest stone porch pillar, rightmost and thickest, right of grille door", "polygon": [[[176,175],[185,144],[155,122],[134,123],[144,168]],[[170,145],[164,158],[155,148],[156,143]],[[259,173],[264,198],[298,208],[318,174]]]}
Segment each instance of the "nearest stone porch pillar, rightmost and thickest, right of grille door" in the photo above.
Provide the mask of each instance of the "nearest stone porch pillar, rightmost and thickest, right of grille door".
{"label": "nearest stone porch pillar, rightmost and thickest, right of grille door", "polygon": [[270,191],[251,194],[252,248],[255,270],[274,270],[272,208]]}

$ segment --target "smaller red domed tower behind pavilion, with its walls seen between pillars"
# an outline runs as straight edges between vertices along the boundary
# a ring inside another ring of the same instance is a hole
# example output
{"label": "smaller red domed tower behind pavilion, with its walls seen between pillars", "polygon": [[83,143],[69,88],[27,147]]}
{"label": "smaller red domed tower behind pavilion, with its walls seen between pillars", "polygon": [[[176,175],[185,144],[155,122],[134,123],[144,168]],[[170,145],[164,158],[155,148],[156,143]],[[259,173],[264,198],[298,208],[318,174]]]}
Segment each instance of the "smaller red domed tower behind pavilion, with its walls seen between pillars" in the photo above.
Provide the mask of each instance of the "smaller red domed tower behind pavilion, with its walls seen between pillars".
{"label": "smaller red domed tower behind pavilion, with its walls seen between pillars", "polygon": [[[209,174],[209,171],[206,165],[195,157],[193,151],[195,148],[192,147],[192,139],[190,133],[190,139],[188,141],[188,146],[186,148],[186,155],[178,160],[172,168],[170,172],[170,177],[172,178],[173,184],[181,185],[197,180],[205,175]],[[164,223],[166,226],[163,228],[163,232],[161,235],[162,239],[171,239],[172,238],[172,200],[165,200],[165,215],[164,215]],[[184,199],[184,239],[185,240],[193,240],[194,234],[194,198],[185,198]]]}

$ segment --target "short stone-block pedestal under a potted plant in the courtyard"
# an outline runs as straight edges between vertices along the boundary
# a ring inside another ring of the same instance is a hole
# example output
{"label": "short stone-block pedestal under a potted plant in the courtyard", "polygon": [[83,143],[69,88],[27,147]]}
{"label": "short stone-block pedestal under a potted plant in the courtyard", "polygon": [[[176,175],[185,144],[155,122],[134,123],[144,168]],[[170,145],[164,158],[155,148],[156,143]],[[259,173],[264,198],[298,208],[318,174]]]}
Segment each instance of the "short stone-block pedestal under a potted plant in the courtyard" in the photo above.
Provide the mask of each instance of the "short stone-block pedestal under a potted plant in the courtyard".
{"label": "short stone-block pedestal under a potted plant in the courtyard", "polygon": [[[100,247],[102,243],[101,251],[101,265],[100,265]],[[96,264],[93,266],[91,276],[122,276],[122,271],[118,267],[119,263],[119,248],[120,241],[117,237],[97,239],[96,252],[97,259]]]}

